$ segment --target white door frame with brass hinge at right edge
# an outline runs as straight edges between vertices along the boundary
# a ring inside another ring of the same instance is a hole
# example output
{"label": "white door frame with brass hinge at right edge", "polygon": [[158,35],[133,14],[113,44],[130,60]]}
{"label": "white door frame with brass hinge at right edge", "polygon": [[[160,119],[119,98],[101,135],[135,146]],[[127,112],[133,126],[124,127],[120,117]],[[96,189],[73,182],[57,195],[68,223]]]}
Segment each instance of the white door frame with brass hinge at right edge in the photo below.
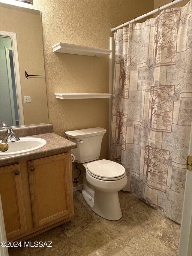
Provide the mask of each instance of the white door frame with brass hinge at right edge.
{"label": "white door frame with brass hinge at right edge", "polygon": [[[190,131],[188,155],[192,155],[192,127]],[[187,170],[178,256],[192,255],[192,186],[191,184],[192,184],[192,171]]]}

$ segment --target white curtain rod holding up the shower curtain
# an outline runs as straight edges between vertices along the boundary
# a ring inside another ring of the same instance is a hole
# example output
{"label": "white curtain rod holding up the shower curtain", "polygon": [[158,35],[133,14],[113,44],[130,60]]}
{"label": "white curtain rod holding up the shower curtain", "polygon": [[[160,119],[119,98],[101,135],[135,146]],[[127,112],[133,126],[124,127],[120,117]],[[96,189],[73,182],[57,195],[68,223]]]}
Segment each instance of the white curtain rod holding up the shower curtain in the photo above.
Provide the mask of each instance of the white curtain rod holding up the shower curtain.
{"label": "white curtain rod holding up the shower curtain", "polygon": [[[161,7],[159,7],[158,9],[155,9],[155,10],[153,10],[153,11],[151,11],[151,12],[148,12],[148,13],[146,13],[146,14],[143,14],[143,15],[140,16],[140,17],[137,17],[137,18],[135,18],[135,19],[133,19],[133,20],[130,20],[130,21],[126,22],[126,23],[123,23],[123,24],[120,25],[120,26],[117,26],[117,27],[111,29],[111,32],[113,32],[113,31],[115,31],[115,30],[117,30],[117,29],[120,29],[120,28],[122,28],[122,27],[124,27],[124,26],[127,26],[127,25],[129,25],[130,23],[133,23],[133,22],[135,22],[135,21],[137,21],[137,20],[141,20],[141,19],[143,19],[143,18],[146,18],[147,16],[152,15],[152,14],[158,12],[158,11],[162,11],[162,10],[164,10],[164,9],[170,7],[170,6],[176,5],[176,4],[178,4],[179,2],[182,2],[182,1],[184,1],[184,0],[175,0],[175,1],[172,1],[171,3],[169,3],[169,4],[167,4],[167,5],[161,6]],[[190,0],[189,0],[189,2],[190,2]]]}

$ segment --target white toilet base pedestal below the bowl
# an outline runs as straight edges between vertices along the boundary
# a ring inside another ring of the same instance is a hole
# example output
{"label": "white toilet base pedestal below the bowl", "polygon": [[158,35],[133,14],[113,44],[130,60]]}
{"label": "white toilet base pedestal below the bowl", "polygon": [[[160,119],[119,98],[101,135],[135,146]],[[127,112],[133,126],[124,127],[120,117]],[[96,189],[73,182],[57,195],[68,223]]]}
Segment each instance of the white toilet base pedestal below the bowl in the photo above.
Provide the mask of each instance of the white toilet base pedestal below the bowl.
{"label": "white toilet base pedestal below the bowl", "polygon": [[83,189],[82,195],[88,206],[99,216],[112,221],[122,217],[118,192],[103,192],[95,189],[95,195],[92,197]]}

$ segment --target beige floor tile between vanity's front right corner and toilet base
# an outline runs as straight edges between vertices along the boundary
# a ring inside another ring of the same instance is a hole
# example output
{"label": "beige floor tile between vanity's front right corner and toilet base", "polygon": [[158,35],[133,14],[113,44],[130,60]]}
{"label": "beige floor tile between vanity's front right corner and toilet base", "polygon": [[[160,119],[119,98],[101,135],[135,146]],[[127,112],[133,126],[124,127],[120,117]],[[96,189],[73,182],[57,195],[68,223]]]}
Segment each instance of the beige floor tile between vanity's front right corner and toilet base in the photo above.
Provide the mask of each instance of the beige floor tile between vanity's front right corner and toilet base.
{"label": "beige floor tile between vanity's front right corner and toilet base", "polygon": [[82,207],[74,210],[74,216],[70,217],[70,221],[61,225],[67,237],[73,236],[80,231],[93,226],[96,221]]}

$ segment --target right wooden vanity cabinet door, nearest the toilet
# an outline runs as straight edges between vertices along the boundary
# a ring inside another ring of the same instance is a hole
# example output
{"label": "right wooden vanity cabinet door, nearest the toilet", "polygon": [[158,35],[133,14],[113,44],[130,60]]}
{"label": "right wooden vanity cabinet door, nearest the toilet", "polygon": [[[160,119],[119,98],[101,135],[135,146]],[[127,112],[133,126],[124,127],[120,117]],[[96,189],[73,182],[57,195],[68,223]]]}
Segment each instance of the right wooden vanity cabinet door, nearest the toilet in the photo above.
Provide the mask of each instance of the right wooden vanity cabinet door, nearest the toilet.
{"label": "right wooden vanity cabinet door, nearest the toilet", "polygon": [[73,215],[70,153],[28,161],[34,226],[54,224]]}

